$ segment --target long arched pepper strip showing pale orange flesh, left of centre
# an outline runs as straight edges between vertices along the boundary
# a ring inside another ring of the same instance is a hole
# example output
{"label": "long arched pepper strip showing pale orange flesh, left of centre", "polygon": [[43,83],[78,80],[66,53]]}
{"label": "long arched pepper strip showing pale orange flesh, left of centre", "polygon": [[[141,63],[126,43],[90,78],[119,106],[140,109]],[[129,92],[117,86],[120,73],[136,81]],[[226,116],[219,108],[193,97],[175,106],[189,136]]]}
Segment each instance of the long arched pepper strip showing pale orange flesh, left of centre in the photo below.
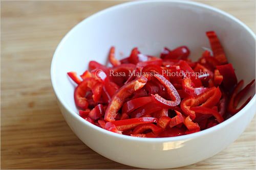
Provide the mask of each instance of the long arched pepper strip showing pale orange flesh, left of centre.
{"label": "long arched pepper strip showing pale orange flesh, left of centre", "polygon": [[106,108],[105,112],[105,121],[112,122],[115,120],[118,110],[122,107],[125,99],[132,95],[135,91],[141,89],[147,82],[145,77],[140,77],[123,85],[113,96],[111,99],[108,108]]}

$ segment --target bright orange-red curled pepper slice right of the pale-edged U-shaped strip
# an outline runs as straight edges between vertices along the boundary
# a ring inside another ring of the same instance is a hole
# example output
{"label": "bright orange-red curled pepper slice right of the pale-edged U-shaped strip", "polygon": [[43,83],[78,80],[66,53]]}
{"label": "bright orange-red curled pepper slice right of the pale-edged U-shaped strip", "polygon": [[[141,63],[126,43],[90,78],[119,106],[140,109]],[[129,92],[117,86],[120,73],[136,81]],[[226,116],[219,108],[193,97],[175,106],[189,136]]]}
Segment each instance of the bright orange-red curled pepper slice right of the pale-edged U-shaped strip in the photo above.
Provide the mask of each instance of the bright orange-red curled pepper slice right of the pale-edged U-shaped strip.
{"label": "bright orange-red curled pepper slice right of the pale-edged U-shaped strip", "polygon": [[189,96],[187,98],[184,98],[181,101],[180,107],[186,116],[190,116],[190,118],[194,120],[196,117],[196,113],[195,111],[190,110],[190,107],[199,106],[200,104],[202,104],[201,106],[211,108],[219,102],[220,98],[221,91],[219,87],[211,87],[198,96]]}

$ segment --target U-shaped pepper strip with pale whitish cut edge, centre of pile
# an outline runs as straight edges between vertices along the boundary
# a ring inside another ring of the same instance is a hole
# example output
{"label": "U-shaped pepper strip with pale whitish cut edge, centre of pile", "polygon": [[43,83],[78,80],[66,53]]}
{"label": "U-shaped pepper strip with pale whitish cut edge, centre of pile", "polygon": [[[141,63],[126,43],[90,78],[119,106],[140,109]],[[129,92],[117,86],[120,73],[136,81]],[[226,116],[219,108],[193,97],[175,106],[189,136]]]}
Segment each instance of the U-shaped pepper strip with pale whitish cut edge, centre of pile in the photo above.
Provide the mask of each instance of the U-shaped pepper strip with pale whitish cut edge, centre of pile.
{"label": "U-shaped pepper strip with pale whitish cut edge, centre of pile", "polygon": [[172,101],[168,101],[164,98],[162,98],[160,95],[158,94],[151,94],[155,99],[156,101],[162,105],[162,106],[167,106],[167,107],[174,107],[174,106],[177,106],[180,104],[180,95],[179,93],[177,92],[177,90],[175,89],[175,87],[173,86],[172,83],[170,83],[168,80],[166,80],[162,75],[154,75],[155,78],[157,78],[157,80],[159,80],[166,88],[167,92],[168,92],[168,95],[170,97],[170,99]]}

